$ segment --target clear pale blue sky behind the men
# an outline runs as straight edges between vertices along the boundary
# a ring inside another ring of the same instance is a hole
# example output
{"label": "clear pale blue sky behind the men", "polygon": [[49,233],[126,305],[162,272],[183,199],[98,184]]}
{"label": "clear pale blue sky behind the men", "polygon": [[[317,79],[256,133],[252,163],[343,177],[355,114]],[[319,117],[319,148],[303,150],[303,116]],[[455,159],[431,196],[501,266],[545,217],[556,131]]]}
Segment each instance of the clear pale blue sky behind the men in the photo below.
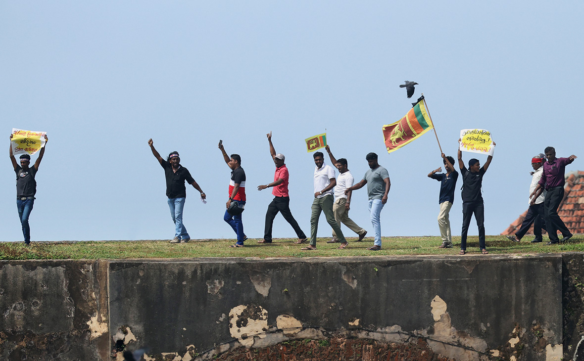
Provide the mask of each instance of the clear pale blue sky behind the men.
{"label": "clear pale blue sky behind the men", "polygon": [[[485,227],[499,234],[527,209],[533,155],[580,156],[584,3],[564,2],[11,2],[0,3],[0,119],[47,131],[30,217],[32,240],[171,239],[162,155],[178,150],[208,203],[187,188],[192,238],[232,238],[223,221],[230,169],[247,175],[244,229],[263,236],[274,164],[286,155],[290,208],[310,232],[312,153],[327,133],[357,180],[376,152],[390,173],[383,236],[438,235],[442,165],[432,133],[390,155],[381,127],[411,107],[399,84],[419,83],[444,152],[460,129],[497,143],[485,174]],[[468,161],[474,157],[463,153]],[[33,157],[34,158],[34,157]],[[486,157],[479,156],[484,163]],[[328,159],[325,159],[328,160]],[[460,182],[459,182],[460,183]],[[0,240],[22,240],[15,173],[0,167]],[[460,185],[450,212],[460,235]],[[366,190],[350,217],[371,230]],[[472,221],[474,222],[474,221]],[[474,223],[472,223],[474,224]],[[343,230],[346,228],[343,228]],[[321,217],[319,236],[330,228]],[[354,236],[346,230],[347,236]],[[477,234],[471,226],[470,234]],[[277,216],[274,237],[294,237]]]}

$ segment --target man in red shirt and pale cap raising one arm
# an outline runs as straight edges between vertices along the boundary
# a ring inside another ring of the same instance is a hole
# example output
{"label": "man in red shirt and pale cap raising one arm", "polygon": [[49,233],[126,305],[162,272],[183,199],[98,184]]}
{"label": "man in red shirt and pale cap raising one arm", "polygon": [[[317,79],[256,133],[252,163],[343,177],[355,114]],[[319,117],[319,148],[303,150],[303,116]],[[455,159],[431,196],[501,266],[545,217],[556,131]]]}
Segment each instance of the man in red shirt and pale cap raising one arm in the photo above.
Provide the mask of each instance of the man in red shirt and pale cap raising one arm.
{"label": "man in red shirt and pale cap raising one arm", "polygon": [[290,197],[288,196],[288,169],[286,168],[286,164],[284,164],[284,155],[277,153],[274,150],[274,146],[272,144],[272,132],[266,134],[267,141],[270,143],[270,154],[272,155],[272,159],[274,160],[274,164],[276,164],[276,173],[274,173],[274,181],[270,184],[266,185],[258,185],[258,191],[265,190],[266,188],[273,187],[272,194],[274,195],[274,199],[269,206],[267,206],[266,212],[266,227],[263,234],[263,240],[259,240],[258,243],[272,243],[272,225],[274,222],[274,218],[278,212],[282,213],[286,222],[290,223],[290,226],[296,232],[298,236],[298,242],[302,243],[306,240],[306,235],[298,226],[298,222],[292,216],[292,212],[290,212]]}

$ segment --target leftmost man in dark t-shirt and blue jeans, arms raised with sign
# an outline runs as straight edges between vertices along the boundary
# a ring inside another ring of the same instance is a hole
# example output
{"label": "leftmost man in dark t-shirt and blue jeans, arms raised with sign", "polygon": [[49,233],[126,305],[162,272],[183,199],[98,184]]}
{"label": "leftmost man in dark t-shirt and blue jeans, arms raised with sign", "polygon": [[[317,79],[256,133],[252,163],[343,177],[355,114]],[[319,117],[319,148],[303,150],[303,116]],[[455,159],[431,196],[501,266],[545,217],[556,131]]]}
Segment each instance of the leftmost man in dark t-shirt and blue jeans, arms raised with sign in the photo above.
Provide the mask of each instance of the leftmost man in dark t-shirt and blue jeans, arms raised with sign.
{"label": "leftmost man in dark t-shirt and blue jeans, arms raised with sign", "polygon": [[[10,135],[12,141],[12,134]],[[39,170],[40,161],[43,159],[44,149],[47,146],[48,138],[44,136],[44,147],[39,151],[39,157],[34,166],[30,168],[30,155],[23,154],[20,156],[20,165],[12,154],[12,144],[10,145],[10,160],[16,172],[16,207],[18,208],[18,217],[22,225],[22,234],[25,236],[25,244],[30,244],[30,226],[29,216],[33,210],[34,195],[36,194],[36,176]]]}

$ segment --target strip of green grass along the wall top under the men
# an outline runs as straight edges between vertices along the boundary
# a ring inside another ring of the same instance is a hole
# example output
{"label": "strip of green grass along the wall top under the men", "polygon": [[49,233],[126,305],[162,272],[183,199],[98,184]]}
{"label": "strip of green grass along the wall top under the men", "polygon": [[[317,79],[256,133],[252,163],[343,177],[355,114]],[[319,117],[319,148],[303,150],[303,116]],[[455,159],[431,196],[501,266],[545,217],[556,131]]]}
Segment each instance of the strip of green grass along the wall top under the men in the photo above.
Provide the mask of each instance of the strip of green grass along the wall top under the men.
{"label": "strip of green grass along the wall top under the men", "polygon": [[[584,235],[578,234],[562,244],[547,246],[545,243],[530,243],[533,236],[526,236],[520,243],[507,240],[505,236],[486,236],[486,248],[490,254],[528,254],[584,251]],[[381,251],[369,251],[373,241],[362,242],[349,239],[344,250],[339,244],[327,244],[327,239],[318,239],[315,251],[302,251],[307,244],[294,244],[296,239],[274,239],[272,244],[258,244],[258,239],[249,239],[243,248],[230,248],[234,240],[191,240],[189,243],[170,244],[168,241],[79,241],[79,242],[33,242],[25,246],[21,242],[0,243],[0,260],[118,260],[128,258],[194,258],[194,257],[340,257],[367,255],[456,255],[460,250],[460,237],[453,237],[453,248],[438,248],[440,237],[384,237]],[[467,256],[480,254],[478,237],[468,237]]]}

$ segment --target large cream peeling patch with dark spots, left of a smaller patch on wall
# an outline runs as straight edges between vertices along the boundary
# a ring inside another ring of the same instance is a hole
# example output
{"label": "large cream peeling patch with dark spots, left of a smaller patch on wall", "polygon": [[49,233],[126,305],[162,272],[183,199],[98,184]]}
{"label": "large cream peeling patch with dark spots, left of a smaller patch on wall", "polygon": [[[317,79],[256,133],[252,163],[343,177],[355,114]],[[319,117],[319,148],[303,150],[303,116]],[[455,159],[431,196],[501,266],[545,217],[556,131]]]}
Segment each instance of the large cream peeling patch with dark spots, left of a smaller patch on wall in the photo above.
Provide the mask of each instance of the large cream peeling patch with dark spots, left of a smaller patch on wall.
{"label": "large cream peeling patch with dark spots, left of a smaller patch on wall", "polygon": [[265,338],[267,311],[262,306],[235,306],[229,311],[229,332],[244,346],[252,346],[254,336]]}

